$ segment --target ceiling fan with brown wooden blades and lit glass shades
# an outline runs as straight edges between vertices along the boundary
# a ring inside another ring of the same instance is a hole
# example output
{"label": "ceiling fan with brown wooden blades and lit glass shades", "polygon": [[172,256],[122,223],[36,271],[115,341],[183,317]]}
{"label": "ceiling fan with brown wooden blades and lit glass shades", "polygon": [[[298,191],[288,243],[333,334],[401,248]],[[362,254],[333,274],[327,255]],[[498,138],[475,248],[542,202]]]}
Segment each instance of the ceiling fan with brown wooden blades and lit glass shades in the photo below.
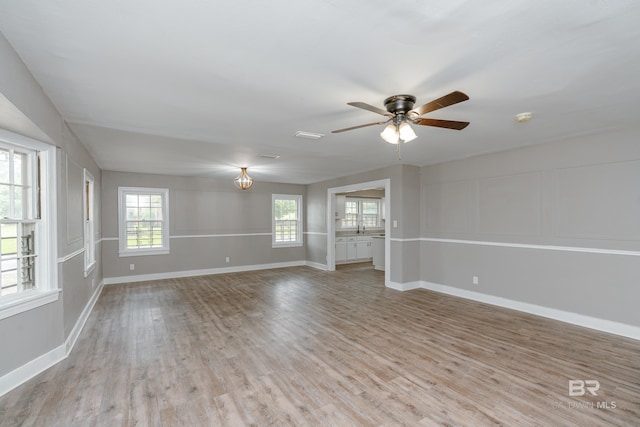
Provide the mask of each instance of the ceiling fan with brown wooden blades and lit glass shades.
{"label": "ceiling fan with brown wooden blades and lit glass shades", "polygon": [[348,105],[362,108],[368,111],[373,111],[374,113],[378,113],[380,115],[388,117],[388,119],[381,122],[367,123],[364,125],[338,129],[331,132],[339,133],[353,129],[360,129],[367,126],[382,125],[392,122],[387,127],[385,127],[380,136],[390,144],[399,144],[400,141],[408,142],[417,137],[409,123],[423,126],[435,126],[446,129],[462,130],[469,125],[469,122],[428,119],[420,116],[431,111],[439,110],[440,108],[448,107],[450,105],[466,101],[468,99],[469,97],[465,93],[455,91],[431,102],[427,102],[426,104],[418,108],[413,108],[413,105],[416,102],[415,96],[393,95],[384,100],[386,111],[382,108],[374,107],[373,105],[367,104],[365,102],[347,102]]}

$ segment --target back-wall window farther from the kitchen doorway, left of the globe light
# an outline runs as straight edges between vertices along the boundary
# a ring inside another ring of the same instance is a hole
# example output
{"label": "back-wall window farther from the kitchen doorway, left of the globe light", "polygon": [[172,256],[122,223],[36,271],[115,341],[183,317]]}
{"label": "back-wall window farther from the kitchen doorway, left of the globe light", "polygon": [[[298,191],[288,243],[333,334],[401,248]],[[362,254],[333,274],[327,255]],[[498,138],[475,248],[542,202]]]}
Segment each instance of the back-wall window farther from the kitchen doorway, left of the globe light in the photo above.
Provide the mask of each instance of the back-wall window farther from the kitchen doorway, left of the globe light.
{"label": "back-wall window farther from the kitchen doorway, left of the globe light", "polygon": [[118,188],[120,256],[169,253],[169,190]]}

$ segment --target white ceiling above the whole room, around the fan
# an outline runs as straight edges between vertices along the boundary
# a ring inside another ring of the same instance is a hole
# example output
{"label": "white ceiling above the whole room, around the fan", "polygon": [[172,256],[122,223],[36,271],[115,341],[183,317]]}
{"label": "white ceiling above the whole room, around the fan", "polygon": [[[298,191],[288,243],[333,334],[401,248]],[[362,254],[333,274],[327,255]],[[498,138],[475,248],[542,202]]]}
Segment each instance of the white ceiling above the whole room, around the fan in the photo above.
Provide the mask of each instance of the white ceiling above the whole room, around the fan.
{"label": "white ceiling above the whole room, around the fan", "polygon": [[[102,169],[307,184],[638,128],[640,2],[0,0],[0,31]],[[1,64],[0,64],[1,67]],[[427,117],[401,147],[395,94]],[[535,114],[518,124],[514,115]],[[323,133],[296,138],[298,130]],[[277,160],[257,157],[278,154]]]}

